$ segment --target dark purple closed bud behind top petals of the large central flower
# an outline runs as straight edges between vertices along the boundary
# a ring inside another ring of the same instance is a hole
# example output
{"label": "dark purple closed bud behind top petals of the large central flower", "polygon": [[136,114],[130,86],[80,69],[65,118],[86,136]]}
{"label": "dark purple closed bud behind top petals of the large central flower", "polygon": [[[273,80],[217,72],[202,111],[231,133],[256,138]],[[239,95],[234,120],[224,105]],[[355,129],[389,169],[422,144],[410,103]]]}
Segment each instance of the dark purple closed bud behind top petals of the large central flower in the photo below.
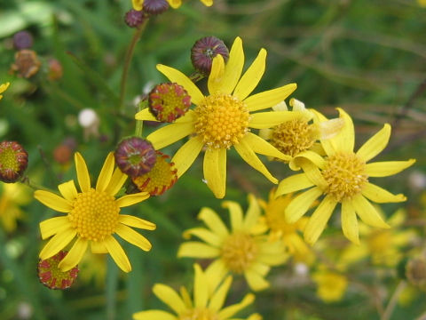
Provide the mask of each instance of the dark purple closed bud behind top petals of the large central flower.
{"label": "dark purple closed bud behind top petals of the large central flower", "polygon": [[224,42],[216,36],[205,36],[197,40],[191,49],[193,68],[204,76],[209,76],[213,58],[220,54],[225,62],[229,58],[229,50]]}

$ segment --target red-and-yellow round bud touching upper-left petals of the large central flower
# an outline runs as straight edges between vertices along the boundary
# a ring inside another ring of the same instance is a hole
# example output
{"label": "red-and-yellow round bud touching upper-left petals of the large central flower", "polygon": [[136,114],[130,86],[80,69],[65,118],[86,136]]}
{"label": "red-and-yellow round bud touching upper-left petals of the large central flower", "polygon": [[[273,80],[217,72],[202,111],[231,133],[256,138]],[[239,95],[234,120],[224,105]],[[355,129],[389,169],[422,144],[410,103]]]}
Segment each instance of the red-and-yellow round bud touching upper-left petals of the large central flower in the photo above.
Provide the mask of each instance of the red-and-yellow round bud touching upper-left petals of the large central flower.
{"label": "red-and-yellow round bud touching upper-left petals of the large central flower", "polygon": [[191,96],[180,84],[157,84],[148,94],[148,106],[158,121],[171,123],[191,107]]}

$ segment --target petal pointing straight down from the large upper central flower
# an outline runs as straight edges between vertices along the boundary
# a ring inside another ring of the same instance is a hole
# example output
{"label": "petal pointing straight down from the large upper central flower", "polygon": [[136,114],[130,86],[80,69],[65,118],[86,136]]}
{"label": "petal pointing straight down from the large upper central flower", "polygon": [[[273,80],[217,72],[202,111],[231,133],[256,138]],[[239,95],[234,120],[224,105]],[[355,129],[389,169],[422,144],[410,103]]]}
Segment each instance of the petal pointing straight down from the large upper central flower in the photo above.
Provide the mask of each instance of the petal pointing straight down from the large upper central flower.
{"label": "petal pointing straight down from the large upper central flower", "polygon": [[226,149],[208,148],[203,162],[204,180],[213,194],[221,199],[226,191]]}

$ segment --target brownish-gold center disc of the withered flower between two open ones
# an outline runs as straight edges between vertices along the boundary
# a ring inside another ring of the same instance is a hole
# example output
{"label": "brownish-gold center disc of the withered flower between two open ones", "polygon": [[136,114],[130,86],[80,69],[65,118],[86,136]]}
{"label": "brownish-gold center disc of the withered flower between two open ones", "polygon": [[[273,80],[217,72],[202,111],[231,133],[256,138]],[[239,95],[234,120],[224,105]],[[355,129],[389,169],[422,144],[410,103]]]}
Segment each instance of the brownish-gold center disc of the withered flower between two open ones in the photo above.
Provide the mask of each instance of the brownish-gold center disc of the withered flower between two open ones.
{"label": "brownish-gold center disc of the withered flower between two open ones", "polygon": [[285,155],[297,156],[311,148],[317,137],[314,125],[304,119],[294,119],[273,128],[271,144]]}

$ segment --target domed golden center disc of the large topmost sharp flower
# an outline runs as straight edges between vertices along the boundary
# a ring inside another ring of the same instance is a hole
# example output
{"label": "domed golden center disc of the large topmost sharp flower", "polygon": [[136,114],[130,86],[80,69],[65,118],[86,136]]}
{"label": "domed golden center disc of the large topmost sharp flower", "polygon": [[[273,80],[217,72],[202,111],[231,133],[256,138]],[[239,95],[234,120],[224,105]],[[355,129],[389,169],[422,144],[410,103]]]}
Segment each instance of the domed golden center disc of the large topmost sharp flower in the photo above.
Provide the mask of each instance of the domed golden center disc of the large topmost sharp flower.
{"label": "domed golden center disc of the large topmost sharp flower", "polygon": [[195,132],[208,148],[231,148],[248,132],[246,105],[232,95],[209,95],[194,112]]}

